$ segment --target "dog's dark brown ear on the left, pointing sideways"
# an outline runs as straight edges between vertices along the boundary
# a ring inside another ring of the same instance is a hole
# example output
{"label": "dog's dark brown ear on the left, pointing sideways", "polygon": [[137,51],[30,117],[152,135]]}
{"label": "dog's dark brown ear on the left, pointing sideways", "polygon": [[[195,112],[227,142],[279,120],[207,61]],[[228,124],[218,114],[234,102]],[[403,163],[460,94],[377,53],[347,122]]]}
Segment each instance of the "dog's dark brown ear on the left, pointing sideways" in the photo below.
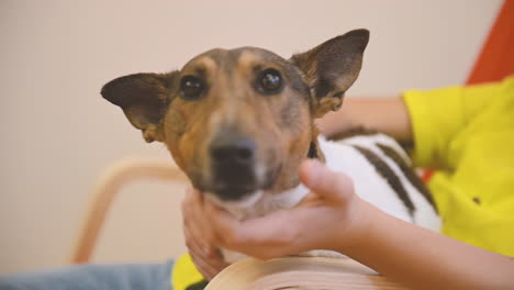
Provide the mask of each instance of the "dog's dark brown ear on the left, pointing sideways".
{"label": "dog's dark brown ear on the left, pointing sideways", "polygon": [[105,83],[102,97],[123,109],[128,121],[143,132],[146,142],[164,141],[161,120],[169,103],[177,71],[135,74]]}

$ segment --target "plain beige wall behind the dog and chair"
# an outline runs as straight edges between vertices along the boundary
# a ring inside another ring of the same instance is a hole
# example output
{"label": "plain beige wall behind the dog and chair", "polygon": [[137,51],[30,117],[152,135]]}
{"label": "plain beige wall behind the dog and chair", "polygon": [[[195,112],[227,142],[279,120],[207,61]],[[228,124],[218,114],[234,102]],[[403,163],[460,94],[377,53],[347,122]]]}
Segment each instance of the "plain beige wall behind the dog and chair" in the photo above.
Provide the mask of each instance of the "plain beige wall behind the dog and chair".
{"label": "plain beige wall behind the dog and chair", "polygon": [[[500,0],[0,1],[0,274],[60,266],[99,170],[169,158],[100,98],[108,80],[179,68],[214,46],[283,56],[355,27],[371,41],[350,94],[465,81]],[[182,188],[141,182],[111,212],[97,261],[183,250]]]}

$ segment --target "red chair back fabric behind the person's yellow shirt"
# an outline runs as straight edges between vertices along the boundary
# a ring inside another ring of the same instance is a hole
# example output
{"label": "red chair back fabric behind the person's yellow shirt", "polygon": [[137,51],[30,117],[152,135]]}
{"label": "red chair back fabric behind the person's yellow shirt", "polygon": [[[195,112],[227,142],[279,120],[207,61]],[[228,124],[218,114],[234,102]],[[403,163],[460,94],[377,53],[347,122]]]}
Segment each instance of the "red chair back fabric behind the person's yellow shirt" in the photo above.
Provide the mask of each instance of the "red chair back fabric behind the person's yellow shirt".
{"label": "red chair back fabric behind the person's yellow shirt", "polygon": [[[514,74],[514,0],[505,0],[466,85],[498,81]],[[423,181],[434,171],[426,169]]]}

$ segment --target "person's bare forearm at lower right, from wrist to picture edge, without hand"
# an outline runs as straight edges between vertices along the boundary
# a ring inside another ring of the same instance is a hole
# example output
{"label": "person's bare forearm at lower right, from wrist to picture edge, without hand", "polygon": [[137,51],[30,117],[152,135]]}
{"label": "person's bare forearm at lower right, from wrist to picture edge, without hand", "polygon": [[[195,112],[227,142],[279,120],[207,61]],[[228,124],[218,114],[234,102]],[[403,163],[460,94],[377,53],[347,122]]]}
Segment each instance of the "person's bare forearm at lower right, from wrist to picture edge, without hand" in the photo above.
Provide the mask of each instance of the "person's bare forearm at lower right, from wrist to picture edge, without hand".
{"label": "person's bare forearm at lower right, from wrist to picture edge, without hand", "polygon": [[413,289],[514,289],[514,259],[365,211],[366,231],[335,248],[382,275]]}

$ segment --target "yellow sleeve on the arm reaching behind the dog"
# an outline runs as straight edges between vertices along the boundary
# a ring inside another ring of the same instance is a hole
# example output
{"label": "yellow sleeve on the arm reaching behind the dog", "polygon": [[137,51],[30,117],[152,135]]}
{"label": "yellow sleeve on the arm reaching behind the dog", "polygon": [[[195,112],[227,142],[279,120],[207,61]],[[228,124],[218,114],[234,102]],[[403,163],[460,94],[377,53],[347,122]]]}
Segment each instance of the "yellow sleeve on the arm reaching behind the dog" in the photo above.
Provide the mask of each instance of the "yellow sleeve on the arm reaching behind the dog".
{"label": "yellow sleeve on the arm reaching behind the dog", "polygon": [[414,135],[412,158],[420,167],[447,167],[448,146],[469,121],[488,110],[501,82],[403,93]]}

